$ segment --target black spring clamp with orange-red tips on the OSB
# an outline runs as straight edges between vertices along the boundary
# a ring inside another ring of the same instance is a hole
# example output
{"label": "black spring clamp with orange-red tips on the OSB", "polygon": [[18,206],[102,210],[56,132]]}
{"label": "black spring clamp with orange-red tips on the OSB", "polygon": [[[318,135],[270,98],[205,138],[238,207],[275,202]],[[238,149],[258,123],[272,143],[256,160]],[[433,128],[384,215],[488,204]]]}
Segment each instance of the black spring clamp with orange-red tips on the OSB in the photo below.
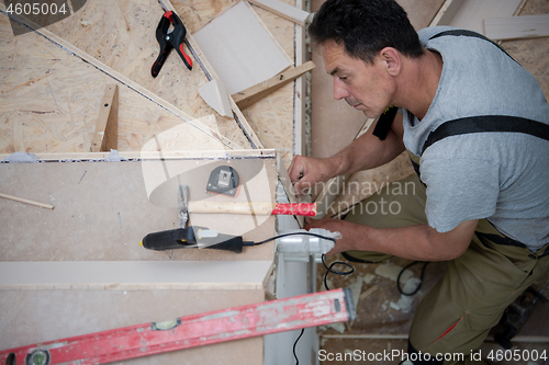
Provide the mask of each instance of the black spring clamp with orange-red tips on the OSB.
{"label": "black spring clamp with orange-red tips on the OSB", "polygon": [[[173,24],[172,32],[168,33],[170,24]],[[187,28],[179,19],[179,16],[172,12],[167,11],[164,13],[158,26],[156,27],[156,39],[160,45],[160,55],[156,59],[155,64],[150,68],[150,73],[154,78],[160,72],[164,62],[168,58],[172,48],[176,48],[177,53],[183,59],[184,65],[189,70],[192,70],[192,59],[186,55],[183,50],[183,41],[187,35]]]}

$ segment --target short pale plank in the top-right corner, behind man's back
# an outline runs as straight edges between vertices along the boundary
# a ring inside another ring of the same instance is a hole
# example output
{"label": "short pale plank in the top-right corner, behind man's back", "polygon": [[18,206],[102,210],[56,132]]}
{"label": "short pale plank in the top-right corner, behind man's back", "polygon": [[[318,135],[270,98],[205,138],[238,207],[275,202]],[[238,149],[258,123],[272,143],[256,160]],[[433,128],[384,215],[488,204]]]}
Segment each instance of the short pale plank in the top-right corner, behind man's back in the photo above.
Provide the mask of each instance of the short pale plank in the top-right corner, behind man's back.
{"label": "short pale plank in the top-right corner, behind man's back", "polygon": [[549,14],[485,19],[484,31],[489,38],[497,41],[546,37]]}

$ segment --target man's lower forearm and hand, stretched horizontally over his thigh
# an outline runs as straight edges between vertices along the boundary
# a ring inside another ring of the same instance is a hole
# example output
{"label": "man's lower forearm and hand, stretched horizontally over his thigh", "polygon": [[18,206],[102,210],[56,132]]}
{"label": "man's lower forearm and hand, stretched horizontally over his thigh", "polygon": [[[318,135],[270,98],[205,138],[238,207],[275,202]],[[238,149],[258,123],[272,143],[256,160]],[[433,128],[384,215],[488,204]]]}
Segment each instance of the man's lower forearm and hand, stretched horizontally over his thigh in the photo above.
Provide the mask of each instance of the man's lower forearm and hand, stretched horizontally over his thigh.
{"label": "man's lower forearm and hand, stretched horizontally over his thigh", "polygon": [[401,228],[373,228],[345,220],[325,218],[312,220],[305,228],[322,227],[343,236],[328,255],[349,251],[372,251],[418,261],[453,260],[466,252],[478,220],[468,220],[440,233],[428,225]]}

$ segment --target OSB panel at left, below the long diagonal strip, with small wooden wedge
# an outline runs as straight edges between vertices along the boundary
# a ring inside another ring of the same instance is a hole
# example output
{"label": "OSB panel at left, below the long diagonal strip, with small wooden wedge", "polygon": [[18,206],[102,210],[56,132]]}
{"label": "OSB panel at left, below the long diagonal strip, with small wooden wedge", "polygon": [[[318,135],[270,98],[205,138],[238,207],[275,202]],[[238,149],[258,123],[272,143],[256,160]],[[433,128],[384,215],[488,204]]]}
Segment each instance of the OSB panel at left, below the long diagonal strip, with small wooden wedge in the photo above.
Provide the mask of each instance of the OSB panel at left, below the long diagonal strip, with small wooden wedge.
{"label": "OSB panel at left, below the long diagonal strip, with small wooden wedge", "polygon": [[[34,32],[14,37],[3,14],[0,44],[0,152],[89,151],[104,87],[115,80]],[[155,134],[172,127],[186,130],[181,150],[227,148],[117,84],[119,150],[139,150]],[[215,130],[215,121],[209,115],[200,122]],[[231,137],[245,146],[236,126],[234,132]]]}

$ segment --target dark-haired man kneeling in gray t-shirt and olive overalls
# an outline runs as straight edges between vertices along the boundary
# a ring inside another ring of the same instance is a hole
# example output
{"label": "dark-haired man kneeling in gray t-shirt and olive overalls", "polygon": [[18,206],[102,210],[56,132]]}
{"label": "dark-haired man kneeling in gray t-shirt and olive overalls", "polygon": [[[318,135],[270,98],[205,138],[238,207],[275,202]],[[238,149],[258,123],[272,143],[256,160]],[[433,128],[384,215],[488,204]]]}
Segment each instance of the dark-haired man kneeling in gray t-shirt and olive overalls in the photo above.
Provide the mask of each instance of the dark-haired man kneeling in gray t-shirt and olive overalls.
{"label": "dark-haired man kneeling in gray t-shirt and olive overalls", "polygon": [[326,159],[295,156],[296,192],[405,149],[423,184],[414,178],[417,191],[399,201],[399,215],[356,209],[307,228],[341,232],[329,254],[448,261],[417,307],[408,352],[432,355],[415,364],[455,353],[471,363],[504,309],[549,267],[549,105],[539,84],[477,33],[416,33],[392,0],[327,0],[310,33],[334,98],[368,117],[400,112],[386,136],[367,133]]}

